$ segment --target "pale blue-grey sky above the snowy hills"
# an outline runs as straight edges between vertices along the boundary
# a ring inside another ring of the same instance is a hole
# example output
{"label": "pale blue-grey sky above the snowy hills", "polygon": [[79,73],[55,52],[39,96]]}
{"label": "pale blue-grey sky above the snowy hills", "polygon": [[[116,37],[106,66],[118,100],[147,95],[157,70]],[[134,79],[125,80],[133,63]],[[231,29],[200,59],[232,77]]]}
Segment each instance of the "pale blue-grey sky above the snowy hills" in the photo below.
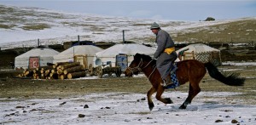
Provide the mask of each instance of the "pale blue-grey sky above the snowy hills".
{"label": "pale blue-grey sky above the snowy hills", "polygon": [[0,0],[0,4],[156,20],[256,17],[256,0]]}

